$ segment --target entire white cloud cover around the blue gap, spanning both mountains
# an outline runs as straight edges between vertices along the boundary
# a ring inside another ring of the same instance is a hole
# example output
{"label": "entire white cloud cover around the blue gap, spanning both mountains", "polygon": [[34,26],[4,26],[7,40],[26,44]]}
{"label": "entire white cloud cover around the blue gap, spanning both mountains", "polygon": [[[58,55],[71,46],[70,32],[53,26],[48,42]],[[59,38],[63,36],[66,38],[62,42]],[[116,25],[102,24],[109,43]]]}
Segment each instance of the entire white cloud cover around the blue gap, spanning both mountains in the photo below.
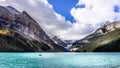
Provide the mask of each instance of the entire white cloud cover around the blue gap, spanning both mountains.
{"label": "entire white cloud cover around the blue gap, spanning both mountains", "polygon": [[[1,0],[0,0],[1,1]],[[119,0],[79,0],[77,5],[85,8],[71,9],[75,23],[66,21],[65,17],[56,13],[47,0],[6,0],[0,5],[11,5],[19,11],[27,11],[49,34],[55,34],[62,39],[80,39],[98,28],[101,22],[119,19],[120,13],[114,12],[114,6]]]}

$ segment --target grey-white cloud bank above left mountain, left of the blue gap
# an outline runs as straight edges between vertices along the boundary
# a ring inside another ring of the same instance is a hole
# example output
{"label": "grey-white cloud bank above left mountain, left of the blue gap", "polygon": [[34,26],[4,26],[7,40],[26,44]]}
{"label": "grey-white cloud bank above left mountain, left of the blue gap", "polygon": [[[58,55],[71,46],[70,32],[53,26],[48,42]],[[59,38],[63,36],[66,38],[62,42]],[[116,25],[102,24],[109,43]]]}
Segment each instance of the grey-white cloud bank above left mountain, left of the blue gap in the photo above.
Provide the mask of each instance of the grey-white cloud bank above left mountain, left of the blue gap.
{"label": "grey-white cloud bank above left mountain, left of the blue gap", "polygon": [[47,0],[5,0],[0,5],[10,5],[21,12],[27,11],[47,34],[62,36],[73,26],[65,17],[57,14]]}

